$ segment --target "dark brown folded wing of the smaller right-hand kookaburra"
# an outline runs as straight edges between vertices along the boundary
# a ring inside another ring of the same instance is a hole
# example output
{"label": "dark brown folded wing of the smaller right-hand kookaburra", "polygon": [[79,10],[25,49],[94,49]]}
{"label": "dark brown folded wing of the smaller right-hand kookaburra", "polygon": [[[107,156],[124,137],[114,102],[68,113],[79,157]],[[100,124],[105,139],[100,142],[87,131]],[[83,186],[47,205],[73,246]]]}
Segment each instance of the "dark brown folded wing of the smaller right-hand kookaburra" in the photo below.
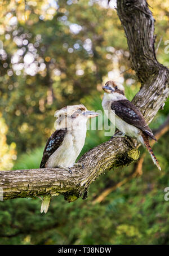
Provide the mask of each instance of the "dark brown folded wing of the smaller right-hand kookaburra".
{"label": "dark brown folded wing of the smaller right-hand kookaburra", "polygon": [[128,99],[114,101],[111,105],[111,108],[115,114],[119,116],[119,118],[123,119],[126,123],[132,124],[139,128],[141,131],[156,141],[152,130],[148,127],[144,120],[144,116],[134,104],[128,101]]}

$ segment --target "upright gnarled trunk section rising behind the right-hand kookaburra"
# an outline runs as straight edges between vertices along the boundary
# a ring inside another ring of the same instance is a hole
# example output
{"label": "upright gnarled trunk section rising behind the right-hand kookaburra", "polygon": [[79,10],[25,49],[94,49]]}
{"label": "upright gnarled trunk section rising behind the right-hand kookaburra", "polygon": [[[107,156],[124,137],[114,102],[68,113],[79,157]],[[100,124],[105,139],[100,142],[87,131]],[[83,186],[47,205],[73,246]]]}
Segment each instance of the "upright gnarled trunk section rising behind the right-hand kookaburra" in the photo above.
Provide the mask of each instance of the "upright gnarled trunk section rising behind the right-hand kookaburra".
{"label": "upright gnarled trunk section rising behind the right-hand kookaburra", "polygon": [[169,91],[168,69],[155,57],[154,18],[145,0],[117,1],[117,13],[126,33],[132,68],[142,84],[133,103],[150,123]]}

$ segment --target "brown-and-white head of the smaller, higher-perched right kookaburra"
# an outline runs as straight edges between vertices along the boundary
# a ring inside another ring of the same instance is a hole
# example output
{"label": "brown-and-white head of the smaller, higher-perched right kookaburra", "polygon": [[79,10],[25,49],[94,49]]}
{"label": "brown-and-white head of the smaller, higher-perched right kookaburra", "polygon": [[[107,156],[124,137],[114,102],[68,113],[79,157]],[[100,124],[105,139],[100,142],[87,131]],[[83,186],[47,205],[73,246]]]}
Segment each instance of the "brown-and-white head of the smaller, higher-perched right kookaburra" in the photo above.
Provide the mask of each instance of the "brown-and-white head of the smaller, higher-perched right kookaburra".
{"label": "brown-and-white head of the smaller, higher-perched right kookaburra", "polygon": [[114,81],[108,81],[103,86],[105,93],[119,93],[124,96],[124,86]]}

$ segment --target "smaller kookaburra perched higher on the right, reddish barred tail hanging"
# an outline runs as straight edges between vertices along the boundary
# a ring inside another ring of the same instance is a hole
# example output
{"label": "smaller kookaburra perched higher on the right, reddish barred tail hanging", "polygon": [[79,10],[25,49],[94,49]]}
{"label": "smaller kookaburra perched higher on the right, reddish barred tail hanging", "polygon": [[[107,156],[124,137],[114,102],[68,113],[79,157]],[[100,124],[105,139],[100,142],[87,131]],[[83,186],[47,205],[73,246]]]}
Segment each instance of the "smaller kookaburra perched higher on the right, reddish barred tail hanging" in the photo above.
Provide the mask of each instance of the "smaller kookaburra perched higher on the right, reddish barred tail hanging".
{"label": "smaller kookaburra perched higher on the right, reddish barred tail hanging", "polygon": [[[110,121],[122,132],[120,137],[134,137],[143,146],[148,149],[154,164],[161,170],[157,159],[149,144],[149,137],[157,141],[152,130],[145,122],[140,110],[132,104],[124,96],[124,87],[122,84],[114,83],[113,81],[106,82],[103,86],[104,97],[102,101],[105,114],[110,116]],[[119,137],[119,135],[116,135]]]}

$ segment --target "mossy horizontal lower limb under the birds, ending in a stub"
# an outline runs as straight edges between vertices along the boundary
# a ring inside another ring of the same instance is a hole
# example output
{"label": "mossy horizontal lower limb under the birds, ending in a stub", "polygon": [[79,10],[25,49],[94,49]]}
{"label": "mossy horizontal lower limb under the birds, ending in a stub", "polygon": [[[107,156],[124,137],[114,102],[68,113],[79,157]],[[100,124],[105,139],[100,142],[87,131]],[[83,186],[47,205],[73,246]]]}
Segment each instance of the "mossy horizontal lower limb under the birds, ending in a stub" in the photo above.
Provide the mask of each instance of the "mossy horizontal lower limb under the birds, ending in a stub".
{"label": "mossy horizontal lower limb under the birds, ending in a stub", "polygon": [[[123,145],[122,148],[119,144]],[[59,168],[1,171],[3,199],[61,193],[66,200],[74,201],[104,170],[129,164],[138,158],[138,150],[133,149],[129,139],[123,143],[123,138],[113,138],[84,154],[80,160],[84,163],[84,170],[73,168],[73,174]]]}

